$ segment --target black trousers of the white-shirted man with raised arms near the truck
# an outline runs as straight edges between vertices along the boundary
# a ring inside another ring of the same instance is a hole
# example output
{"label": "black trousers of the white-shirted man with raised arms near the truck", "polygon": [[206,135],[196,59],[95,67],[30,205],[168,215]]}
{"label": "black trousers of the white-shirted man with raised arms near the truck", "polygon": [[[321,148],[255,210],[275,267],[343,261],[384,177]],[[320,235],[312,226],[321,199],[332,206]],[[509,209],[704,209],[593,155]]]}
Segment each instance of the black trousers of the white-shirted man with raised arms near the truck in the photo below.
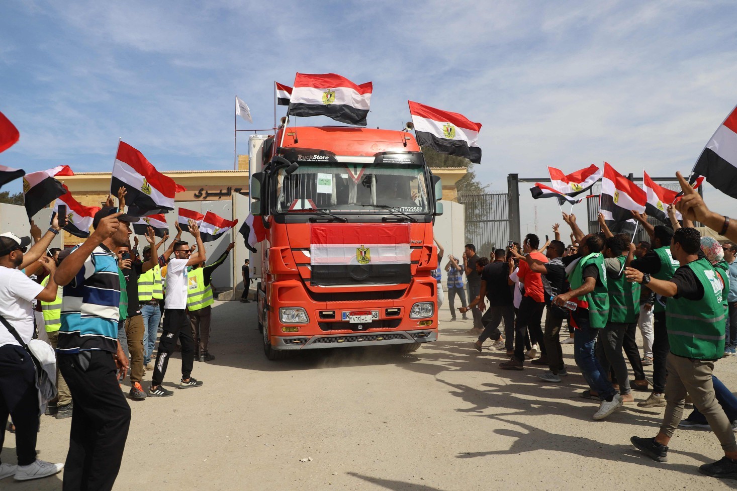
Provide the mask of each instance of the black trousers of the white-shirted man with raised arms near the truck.
{"label": "black trousers of the white-shirted man with raised arms near the truck", "polygon": [[169,358],[177,344],[182,347],[182,378],[188,379],[192,375],[192,366],[195,364],[195,340],[192,339],[192,327],[189,326],[189,316],[184,309],[164,309],[164,332],[158,339],[158,353],[156,354],[156,368],[151,377],[152,386],[160,386],[167,373]]}

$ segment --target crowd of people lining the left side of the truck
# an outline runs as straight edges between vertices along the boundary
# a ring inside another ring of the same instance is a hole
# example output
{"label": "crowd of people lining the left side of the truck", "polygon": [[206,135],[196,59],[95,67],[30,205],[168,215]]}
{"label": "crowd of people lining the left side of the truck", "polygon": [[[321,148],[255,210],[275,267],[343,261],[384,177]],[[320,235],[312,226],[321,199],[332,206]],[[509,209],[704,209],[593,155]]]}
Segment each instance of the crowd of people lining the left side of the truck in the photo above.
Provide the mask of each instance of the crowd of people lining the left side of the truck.
{"label": "crowd of people lining the left side of the truck", "polygon": [[[130,244],[125,188],[94,215],[94,231],[74,248],[49,249],[63,228],[56,216],[45,234],[32,223],[30,237],[0,234],[0,424],[15,433],[18,464],[1,463],[0,479],[43,478],[64,469],[63,490],[111,490],[122,461],[130,425],[130,405],[122,391],[130,381],[130,400],[169,397],[162,383],[172,352],[181,347],[179,389],[203,385],[192,377],[194,362],[214,359],[209,332],[214,293],[212,273],[234,248],[209,265],[196,223],[168,240],[148,228],[139,254]],[[43,321],[35,322],[35,310]],[[160,327],[163,318],[163,326]],[[38,324],[38,325],[37,325]],[[29,344],[46,334],[56,351],[55,393],[37,389],[37,370]],[[154,357],[156,338],[161,338]],[[153,371],[147,390],[142,382]],[[36,439],[43,408],[47,415],[71,417],[64,464],[38,459]],[[0,447],[6,431],[0,432]]]}

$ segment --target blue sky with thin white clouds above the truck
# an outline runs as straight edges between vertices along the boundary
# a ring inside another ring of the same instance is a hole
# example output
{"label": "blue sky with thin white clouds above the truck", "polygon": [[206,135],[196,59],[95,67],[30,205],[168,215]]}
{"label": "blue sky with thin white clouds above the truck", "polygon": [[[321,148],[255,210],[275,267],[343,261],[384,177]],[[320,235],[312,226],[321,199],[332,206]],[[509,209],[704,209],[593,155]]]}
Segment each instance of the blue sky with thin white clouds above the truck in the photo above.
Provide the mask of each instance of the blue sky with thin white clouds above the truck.
{"label": "blue sky with thin white clouds above the truck", "polygon": [[160,170],[231,168],[234,94],[254,114],[239,129],[270,128],[273,80],[295,72],[374,82],[371,126],[401,128],[408,99],[481,122],[478,175],[494,190],[510,169],[547,165],[688,172],[737,104],[732,1],[18,1],[2,13],[0,111],[21,140],[0,163],[27,172],[111,170],[119,137]]}

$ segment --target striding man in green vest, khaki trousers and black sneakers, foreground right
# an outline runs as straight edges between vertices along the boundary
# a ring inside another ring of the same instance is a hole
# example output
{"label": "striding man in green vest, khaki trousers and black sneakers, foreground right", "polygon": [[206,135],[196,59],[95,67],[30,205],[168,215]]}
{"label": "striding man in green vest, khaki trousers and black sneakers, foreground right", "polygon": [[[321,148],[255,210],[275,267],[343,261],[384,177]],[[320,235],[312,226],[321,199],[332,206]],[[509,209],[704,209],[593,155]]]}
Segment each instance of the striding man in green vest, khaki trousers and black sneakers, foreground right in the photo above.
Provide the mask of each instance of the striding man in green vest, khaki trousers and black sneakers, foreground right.
{"label": "striding man in green vest, khaki trousers and black sneakers, foreground right", "polygon": [[704,415],[724,450],[724,458],[703,464],[699,472],[719,478],[737,478],[737,442],[729,418],[716,400],[712,383],[714,362],[724,353],[725,312],[721,277],[701,252],[701,235],[691,227],[675,231],[671,253],[680,267],[663,280],[627,268],[629,281],[638,282],[666,302],[668,353],[666,412],[654,438],[632,436],[632,445],[657,462],[667,462],[668,443],[683,417],[687,395]]}

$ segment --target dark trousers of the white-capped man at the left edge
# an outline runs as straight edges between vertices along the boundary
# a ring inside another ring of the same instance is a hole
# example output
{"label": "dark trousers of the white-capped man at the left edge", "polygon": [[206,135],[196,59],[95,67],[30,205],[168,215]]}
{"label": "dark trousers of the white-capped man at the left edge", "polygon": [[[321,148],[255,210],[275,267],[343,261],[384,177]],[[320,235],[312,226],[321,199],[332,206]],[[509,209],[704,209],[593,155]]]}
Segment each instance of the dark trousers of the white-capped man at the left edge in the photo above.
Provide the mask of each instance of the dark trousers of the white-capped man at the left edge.
{"label": "dark trousers of the white-capped man at the left edge", "polygon": [[35,377],[36,369],[25,349],[15,344],[0,347],[0,449],[7,417],[13,416],[18,465],[36,460],[39,408]]}

